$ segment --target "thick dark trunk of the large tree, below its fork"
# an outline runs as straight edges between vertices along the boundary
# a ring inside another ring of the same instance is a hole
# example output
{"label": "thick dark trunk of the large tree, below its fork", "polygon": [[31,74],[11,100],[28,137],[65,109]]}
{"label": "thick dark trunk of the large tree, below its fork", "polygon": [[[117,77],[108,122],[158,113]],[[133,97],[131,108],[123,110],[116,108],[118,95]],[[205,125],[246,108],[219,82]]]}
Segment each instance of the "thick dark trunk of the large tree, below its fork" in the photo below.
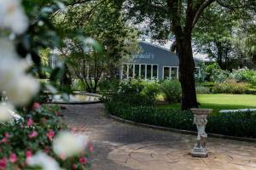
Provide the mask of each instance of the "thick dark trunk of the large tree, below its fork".
{"label": "thick dark trunk of the large tree, below its fork", "polygon": [[182,86],[182,110],[197,108],[195,93],[195,63],[193,59],[191,36],[177,39],[177,54],[179,58],[179,81]]}

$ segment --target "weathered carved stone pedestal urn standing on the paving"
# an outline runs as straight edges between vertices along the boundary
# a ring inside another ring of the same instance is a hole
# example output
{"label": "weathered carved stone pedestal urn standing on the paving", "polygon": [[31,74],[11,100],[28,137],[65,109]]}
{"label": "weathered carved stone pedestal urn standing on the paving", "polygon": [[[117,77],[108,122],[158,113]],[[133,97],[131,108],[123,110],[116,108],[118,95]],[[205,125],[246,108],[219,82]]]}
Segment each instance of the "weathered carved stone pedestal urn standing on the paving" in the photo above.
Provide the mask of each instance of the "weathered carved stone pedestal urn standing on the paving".
{"label": "weathered carved stone pedestal urn standing on the paving", "polygon": [[212,113],[212,109],[191,109],[194,114],[194,124],[197,127],[197,141],[191,150],[192,157],[207,157],[207,116]]}

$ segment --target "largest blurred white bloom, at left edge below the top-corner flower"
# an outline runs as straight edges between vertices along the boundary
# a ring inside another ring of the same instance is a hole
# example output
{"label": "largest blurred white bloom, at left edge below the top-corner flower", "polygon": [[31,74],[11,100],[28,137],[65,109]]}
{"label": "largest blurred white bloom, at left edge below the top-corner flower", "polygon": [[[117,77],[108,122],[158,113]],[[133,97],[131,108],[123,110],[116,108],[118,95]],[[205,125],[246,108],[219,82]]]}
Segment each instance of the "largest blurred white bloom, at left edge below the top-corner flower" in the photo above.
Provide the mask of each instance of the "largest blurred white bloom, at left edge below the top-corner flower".
{"label": "largest blurred white bloom, at left edge below the top-corner flower", "polygon": [[30,65],[29,59],[17,57],[14,44],[0,39],[0,91],[15,105],[26,105],[38,93],[39,82],[26,75]]}

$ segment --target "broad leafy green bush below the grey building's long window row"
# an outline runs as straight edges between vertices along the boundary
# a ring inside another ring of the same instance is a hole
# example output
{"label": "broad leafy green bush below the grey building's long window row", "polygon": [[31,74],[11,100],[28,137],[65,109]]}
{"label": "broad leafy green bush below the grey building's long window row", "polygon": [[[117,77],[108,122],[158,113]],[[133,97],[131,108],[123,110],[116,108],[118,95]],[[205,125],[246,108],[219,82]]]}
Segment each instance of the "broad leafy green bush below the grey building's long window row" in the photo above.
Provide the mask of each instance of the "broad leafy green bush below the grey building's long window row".
{"label": "broad leafy green bush below the grey building's long window row", "polygon": [[140,79],[131,79],[119,82],[118,88],[111,89],[105,94],[108,102],[123,102],[129,105],[155,105],[156,95],[159,93],[157,82],[143,82]]}

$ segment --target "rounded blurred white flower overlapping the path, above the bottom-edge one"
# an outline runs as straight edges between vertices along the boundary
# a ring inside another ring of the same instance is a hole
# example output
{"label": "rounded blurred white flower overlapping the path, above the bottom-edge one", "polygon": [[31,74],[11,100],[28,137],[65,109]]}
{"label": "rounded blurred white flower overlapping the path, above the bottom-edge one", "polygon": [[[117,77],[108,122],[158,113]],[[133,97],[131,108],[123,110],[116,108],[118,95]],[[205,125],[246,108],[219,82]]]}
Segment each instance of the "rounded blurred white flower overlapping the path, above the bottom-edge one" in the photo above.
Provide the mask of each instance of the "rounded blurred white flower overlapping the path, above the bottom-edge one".
{"label": "rounded blurred white flower overlapping the path, above the bottom-edge one", "polygon": [[87,143],[88,137],[86,136],[61,132],[53,142],[53,150],[58,156],[66,158],[83,152]]}

